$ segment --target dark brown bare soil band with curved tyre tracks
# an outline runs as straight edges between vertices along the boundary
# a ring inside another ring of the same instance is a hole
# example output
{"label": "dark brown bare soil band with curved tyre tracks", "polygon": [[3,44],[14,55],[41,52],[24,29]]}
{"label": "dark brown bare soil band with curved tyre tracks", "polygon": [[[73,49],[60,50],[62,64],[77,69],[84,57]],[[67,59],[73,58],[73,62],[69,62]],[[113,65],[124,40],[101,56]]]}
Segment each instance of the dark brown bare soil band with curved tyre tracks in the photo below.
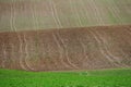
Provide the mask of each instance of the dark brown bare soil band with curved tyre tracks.
{"label": "dark brown bare soil band with curved tyre tracks", "polygon": [[0,67],[70,71],[131,66],[131,25],[0,33]]}

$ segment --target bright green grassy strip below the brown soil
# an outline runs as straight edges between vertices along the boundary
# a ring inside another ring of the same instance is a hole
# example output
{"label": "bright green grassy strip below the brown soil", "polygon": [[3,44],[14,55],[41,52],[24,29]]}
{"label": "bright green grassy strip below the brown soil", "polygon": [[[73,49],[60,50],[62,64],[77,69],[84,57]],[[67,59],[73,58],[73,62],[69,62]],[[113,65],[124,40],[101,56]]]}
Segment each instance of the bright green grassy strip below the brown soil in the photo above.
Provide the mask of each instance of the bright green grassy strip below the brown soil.
{"label": "bright green grassy strip below the brown soil", "polygon": [[23,72],[0,70],[0,87],[131,87],[131,70]]}

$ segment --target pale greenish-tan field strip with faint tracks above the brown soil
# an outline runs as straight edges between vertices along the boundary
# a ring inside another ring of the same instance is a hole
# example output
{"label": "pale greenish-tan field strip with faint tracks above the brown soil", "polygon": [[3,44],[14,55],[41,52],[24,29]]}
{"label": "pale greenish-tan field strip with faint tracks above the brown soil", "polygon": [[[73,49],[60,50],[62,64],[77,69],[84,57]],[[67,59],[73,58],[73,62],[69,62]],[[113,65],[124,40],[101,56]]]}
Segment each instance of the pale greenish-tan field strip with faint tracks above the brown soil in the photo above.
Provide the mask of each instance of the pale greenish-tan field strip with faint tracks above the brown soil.
{"label": "pale greenish-tan field strip with faint tracks above the brown soil", "polygon": [[0,32],[131,24],[130,0],[0,0]]}

